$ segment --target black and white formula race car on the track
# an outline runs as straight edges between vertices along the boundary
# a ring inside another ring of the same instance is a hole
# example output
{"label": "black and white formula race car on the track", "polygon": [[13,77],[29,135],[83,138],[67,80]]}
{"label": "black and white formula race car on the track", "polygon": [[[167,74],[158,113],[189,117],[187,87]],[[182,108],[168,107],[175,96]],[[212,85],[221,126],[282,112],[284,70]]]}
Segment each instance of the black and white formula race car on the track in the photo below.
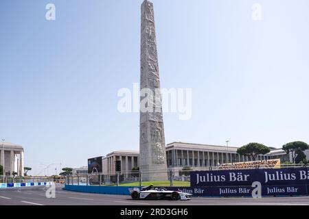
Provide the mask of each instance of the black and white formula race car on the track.
{"label": "black and white formula race car on the track", "polygon": [[179,191],[169,191],[165,188],[154,188],[153,185],[148,185],[141,188],[130,188],[129,189],[131,197],[135,200],[146,199],[146,200],[163,200],[170,199],[172,201],[177,200],[190,200],[192,194],[179,192]]}

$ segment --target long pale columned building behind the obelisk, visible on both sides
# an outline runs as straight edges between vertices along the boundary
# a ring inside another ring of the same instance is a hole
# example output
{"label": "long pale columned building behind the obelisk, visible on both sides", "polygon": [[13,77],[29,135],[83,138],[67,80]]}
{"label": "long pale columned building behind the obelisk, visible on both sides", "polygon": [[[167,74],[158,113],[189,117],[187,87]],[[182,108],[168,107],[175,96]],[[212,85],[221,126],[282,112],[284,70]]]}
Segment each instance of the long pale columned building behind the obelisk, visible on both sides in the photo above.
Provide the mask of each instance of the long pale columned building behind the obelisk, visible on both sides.
{"label": "long pale columned building behind the obelisk, visible on both sides", "polygon": [[[250,157],[240,156],[238,147],[211,144],[192,144],[172,142],[165,147],[168,168],[181,170],[183,167],[198,168],[215,167],[231,162],[249,162]],[[309,150],[308,150],[309,152]],[[305,152],[307,153],[307,151]],[[280,159],[281,162],[292,162],[292,157],[282,149],[271,150],[266,155],[258,155],[258,159]],[[139,151],[114,151],[103,158],[103,172],[115,175],[116,161],[121,161],[121,172],[139,166]]]}

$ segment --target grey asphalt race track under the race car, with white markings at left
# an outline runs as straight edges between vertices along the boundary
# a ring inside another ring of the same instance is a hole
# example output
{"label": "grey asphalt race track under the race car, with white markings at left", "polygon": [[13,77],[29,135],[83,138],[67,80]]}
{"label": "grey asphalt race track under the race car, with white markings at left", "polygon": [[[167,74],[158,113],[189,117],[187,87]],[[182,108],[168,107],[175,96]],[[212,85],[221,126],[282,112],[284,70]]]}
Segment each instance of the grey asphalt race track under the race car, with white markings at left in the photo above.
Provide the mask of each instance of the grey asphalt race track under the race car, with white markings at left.
{"label": "grey asphalt race track under the race car, with white markings at left", "polygon": [[309,196],[271,198],[203,198],[191,201],[134,201],[130,196],[89,194],[62,190],[47,198],[45,186],[0,190],[0,205],[309,205]]}

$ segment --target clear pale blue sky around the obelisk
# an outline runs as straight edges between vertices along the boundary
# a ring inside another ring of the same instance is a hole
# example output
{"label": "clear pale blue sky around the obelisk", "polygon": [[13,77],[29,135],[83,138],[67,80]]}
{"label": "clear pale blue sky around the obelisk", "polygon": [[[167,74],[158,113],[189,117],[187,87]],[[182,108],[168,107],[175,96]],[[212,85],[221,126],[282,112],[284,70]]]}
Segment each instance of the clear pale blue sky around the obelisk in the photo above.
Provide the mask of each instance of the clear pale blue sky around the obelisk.
{"label": "clear pale blue sky around the obelisk", "polygon": [[[141,2],[1,1],[0,137],[24,146],[32,175],[139,149],[117,91],[139,82]],[[309,142],[307,0],[153,2],[161,87],[193,92],[190,120],[164,114],[167,143]]]}

